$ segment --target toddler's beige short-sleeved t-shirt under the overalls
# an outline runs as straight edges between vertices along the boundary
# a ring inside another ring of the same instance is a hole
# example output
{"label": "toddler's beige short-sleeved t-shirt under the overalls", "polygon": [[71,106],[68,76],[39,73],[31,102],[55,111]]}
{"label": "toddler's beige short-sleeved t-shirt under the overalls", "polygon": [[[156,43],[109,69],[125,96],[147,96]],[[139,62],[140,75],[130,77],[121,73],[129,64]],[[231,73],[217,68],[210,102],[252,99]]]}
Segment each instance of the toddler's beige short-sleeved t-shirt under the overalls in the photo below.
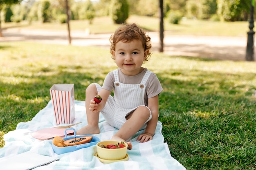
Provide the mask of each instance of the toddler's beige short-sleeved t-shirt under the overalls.
{"label": "toddler's beige short-sleeved t-shirt under the overalls", "polygon": [[[140,84],[141,79],[144,77],[144,74],[146,73],[148,69],[144,68],[144,70],[137,74],[137,75],[124,75],[120,68],[118,68],[118,76],[119,76],[119,82],[124,84]],[[113,71],[108,73],[106,76],[103,86],[103,89],[106,89],[108,91],[112,91],[114,89],[114,82],[115,77]],[[155,97],[158,95],[161,91],[163,91],[163,88],[159,82],[159,79],[157,78],[157,75],[155,73],[151,73],[148,77],[148,81],[146,82],[146,91],[145,91],[145,105],[148,106],[148,98]],[[114,89],[115,91],[115,89]]]}

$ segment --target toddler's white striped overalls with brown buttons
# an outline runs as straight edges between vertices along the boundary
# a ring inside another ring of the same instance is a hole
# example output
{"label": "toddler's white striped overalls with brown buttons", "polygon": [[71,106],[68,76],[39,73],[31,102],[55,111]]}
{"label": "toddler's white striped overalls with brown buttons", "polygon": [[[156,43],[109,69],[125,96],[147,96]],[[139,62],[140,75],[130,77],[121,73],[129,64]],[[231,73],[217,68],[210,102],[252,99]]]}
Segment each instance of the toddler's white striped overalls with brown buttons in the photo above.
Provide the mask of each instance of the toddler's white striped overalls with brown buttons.
{"label": "toddler's white striped overalls with brown buttons", "polygon": [[[126,117],[136,110],[139,106],[145,106],[144,96],[146,90],[146,82],[148,77],[152,73],[146,71],[140,84],[123,84],[119,82],[118,71],[114,70],[114,97],[111,95],[108,97],[108,101],[105,107],[101,110],[103,117],[106,119],[108,124],[120,129],[121,126],[126,122]],[[97,87],[98,91],[99,86]],[[147,107],[147,106],[145,106]],[[147,107],[148,108],[148,107]],[[148,108],[150,111],[150,109]],[[150,117],[145,122],[141,129],[146,128],[146,123],[152,118],[151,111]]]}

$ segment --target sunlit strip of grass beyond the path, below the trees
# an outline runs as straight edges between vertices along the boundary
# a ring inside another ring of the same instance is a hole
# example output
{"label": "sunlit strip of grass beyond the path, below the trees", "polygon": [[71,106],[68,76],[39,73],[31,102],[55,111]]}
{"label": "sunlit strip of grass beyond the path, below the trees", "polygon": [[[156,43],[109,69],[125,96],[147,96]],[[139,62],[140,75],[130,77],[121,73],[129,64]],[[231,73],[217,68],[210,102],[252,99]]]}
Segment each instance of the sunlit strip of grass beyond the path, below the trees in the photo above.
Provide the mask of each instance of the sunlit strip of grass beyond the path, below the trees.
{"label": "sunlit strip of grass beyond the path, below the trees", "polygon": [[[159,19],[145,16],[131,15],[128,23],[135,22],[148,31],[159,31]],[[170,24],[164,21],[165,34],[171,35],[205,35],[205,36],[239,36],[246,37],[249,31],[249,22],[213,22],[206,20],[182,20],[180,24]],[[90,29],[91,33],[113,33],[119,27],[113,24],[109,17],[98,17],[94,19],[92,24],[87,20],[71,20],[71,30]],[[19,29],[54,29],[67,30],[67,24],[28,22],[21,23],[4,23],[2,28],[19,28]]]}

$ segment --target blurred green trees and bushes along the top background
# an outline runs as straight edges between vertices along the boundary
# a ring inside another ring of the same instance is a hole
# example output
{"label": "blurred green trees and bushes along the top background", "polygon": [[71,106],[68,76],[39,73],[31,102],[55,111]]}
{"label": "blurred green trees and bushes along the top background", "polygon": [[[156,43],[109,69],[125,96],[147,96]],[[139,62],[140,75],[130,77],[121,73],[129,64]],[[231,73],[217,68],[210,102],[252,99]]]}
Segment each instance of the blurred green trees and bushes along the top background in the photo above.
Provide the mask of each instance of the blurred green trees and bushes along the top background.
{"label": "blurred green trees and bushes along the top background", "polygon": [[[119,24],[129,15],[159,17],[158,0],[68,0],[71,20],[88,20],[111,16]],[[20,4],[3,4],[1,20],[4,22],[66,21],[65,0],[22,0]],[[213,21],[247,21],[248,0],[164,0],[164,16],[168,22],[179,24],[182,18]]]}

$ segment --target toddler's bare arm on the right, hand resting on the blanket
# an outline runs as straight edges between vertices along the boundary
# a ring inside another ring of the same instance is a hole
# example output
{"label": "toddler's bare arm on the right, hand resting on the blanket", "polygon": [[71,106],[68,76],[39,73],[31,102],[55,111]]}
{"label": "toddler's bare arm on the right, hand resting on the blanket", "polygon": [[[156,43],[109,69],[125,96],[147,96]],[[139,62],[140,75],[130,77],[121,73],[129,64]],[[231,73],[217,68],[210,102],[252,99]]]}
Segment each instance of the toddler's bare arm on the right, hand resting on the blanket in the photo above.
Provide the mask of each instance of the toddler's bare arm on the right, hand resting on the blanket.
{"label": "toddler's bare arm on the right, hand resting on the blanket", "polygon": [[148,121],[145,132],[137,138],[137,141],[140,142],[150,141],[155,135],[155,128],[157,127],[159,115],[158,95],[148,98],[148,108],[151,110],[152,119]]}

